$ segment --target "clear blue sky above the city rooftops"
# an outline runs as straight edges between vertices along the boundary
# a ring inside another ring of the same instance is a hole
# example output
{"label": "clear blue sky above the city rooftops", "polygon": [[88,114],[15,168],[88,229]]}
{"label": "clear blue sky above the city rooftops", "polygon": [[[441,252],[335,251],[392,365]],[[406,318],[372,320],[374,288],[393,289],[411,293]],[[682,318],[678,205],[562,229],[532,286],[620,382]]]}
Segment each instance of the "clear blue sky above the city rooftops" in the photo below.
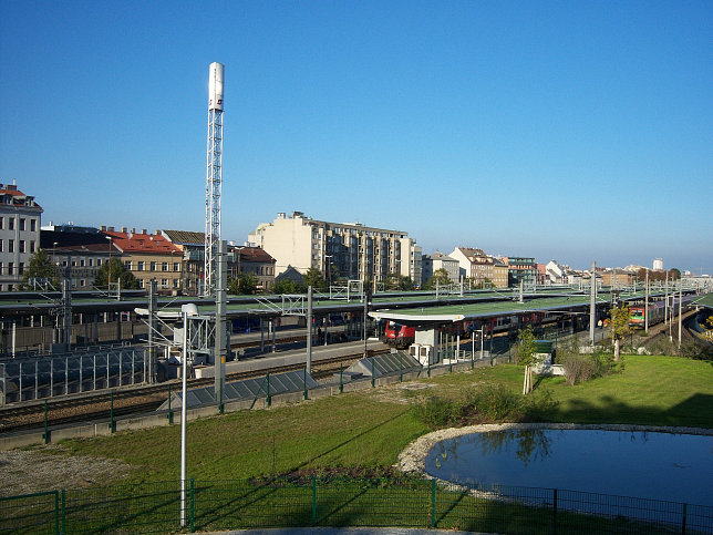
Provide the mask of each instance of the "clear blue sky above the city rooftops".
{"label": "clear blue sky above the city rooftops", "polygon": [[574,267],[713,274],[713,2],[0,0],[0,182],[43,222],[278,212]]}

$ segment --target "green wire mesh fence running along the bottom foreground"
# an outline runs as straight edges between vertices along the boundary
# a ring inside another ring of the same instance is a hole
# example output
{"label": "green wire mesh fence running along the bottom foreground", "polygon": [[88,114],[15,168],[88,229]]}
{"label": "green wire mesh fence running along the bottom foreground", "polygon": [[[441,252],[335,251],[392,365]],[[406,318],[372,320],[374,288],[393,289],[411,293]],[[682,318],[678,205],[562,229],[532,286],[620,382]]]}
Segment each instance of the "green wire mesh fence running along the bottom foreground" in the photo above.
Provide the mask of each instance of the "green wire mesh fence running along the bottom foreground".
{"label": "green wire mesh fence running along the bottom foreground", "polygon": [[293,477],[189,481],[0,498],[0,532],[166,533],[296,526],[485,533],[713,533],[713,507],[556,488],[442,484],[422,479]]}

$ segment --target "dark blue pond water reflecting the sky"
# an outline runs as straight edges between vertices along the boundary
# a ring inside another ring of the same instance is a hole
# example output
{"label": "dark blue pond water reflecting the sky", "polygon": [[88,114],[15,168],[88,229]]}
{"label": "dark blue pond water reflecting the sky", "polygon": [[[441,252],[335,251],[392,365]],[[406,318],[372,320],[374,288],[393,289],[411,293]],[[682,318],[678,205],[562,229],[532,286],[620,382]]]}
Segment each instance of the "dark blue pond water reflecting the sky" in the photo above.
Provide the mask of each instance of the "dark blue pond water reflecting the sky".
{"label": "dark blue pond water reflecting the sky", "polygon": [[454,483],[713,506],[713,436],[554,429],[473,433],[436,444],[425,467]]}

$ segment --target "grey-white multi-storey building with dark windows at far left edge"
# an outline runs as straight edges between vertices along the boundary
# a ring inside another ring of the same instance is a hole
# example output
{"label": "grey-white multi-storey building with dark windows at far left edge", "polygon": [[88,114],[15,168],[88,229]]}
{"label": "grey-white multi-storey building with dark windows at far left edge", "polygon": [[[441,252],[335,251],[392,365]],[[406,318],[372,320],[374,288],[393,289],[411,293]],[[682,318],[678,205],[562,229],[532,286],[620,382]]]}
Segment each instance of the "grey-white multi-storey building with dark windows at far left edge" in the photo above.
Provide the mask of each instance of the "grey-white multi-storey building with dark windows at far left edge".
{"label": "grey-white multi-storey building with dark windows at far left edge", "polygon": [[0,291],[17,290],[40,248],[42,207],[16,184],[0,184]]}

